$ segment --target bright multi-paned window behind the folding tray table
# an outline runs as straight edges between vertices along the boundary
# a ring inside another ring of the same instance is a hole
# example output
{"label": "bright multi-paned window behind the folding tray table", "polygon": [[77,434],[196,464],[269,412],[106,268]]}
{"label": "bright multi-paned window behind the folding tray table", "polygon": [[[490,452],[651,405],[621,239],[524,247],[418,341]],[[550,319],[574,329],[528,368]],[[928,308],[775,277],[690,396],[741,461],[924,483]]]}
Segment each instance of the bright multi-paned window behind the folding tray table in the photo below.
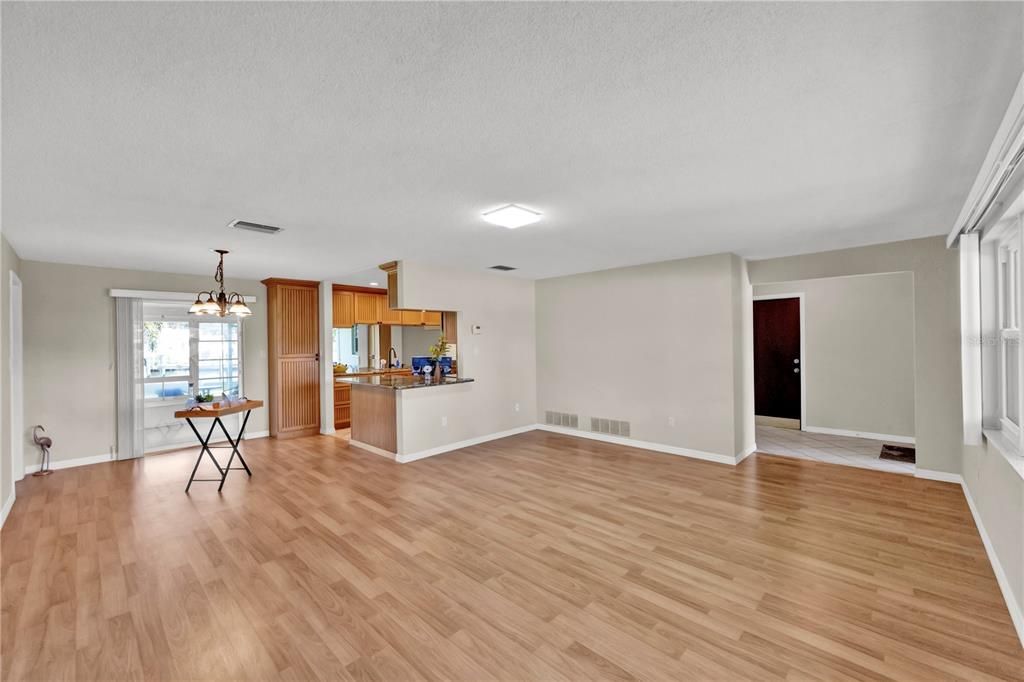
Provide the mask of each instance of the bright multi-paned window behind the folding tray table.
{"label": "bright multi-paned window behind the folding tray table", "polygon": [[241,393],[238,319],[188,316],[180,303],[146,302],[142,310],[147,402],[182,401],[193,390],[215,396]]}

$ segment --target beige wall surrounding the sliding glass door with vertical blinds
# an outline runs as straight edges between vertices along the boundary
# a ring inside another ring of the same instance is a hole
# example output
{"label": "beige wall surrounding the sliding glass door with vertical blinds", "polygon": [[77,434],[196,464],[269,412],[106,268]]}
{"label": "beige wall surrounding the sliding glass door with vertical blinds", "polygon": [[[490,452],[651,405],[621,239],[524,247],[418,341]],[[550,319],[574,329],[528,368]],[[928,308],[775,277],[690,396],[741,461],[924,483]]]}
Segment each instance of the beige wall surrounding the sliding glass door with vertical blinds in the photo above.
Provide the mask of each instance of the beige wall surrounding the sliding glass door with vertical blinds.
{"label": "beige wall surrounding the sliding glass door with vertical blinds", "polygon": [[[109,454],[117,442],[117,369],[111,289],[191,292],[212,280],[194,274],[22,262],[25,290],[25,423],[43,424],[53,438],[54,462]],[[227,280],[228,290],[254,295],[243,324],[243,384],[249,397],[266,397],[266,293],[254,281]],[[266,410],[253,413],[247,431],[267,429]],[[39,455],[30,452],[26,464]]]}

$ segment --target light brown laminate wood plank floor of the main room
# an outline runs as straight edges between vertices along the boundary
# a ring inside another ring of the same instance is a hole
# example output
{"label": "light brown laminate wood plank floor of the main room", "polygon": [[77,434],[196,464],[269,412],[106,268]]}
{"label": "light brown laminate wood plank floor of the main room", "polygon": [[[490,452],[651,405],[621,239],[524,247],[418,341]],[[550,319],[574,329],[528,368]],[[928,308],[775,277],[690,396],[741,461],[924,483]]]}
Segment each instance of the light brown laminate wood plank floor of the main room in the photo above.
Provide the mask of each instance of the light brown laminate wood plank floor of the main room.
{"label": "light brown laminate wood plank floor of the main room", "polygon": [[958,486],[532,432],[251,440],[28,477],[4,680],[1024,679]]}

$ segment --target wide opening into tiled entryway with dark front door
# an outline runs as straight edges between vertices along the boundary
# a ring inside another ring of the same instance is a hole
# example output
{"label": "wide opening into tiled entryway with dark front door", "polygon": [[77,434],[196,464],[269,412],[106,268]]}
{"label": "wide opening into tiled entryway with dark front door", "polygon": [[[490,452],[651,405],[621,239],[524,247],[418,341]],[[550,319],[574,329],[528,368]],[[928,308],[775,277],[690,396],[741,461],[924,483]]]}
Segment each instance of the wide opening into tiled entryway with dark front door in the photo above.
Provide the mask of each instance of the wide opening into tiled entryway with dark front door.
{"label": "wide opening into tiled entryway with dark front door", "polygon": [[913,274],[759,284],[757,451],[913,474]]}

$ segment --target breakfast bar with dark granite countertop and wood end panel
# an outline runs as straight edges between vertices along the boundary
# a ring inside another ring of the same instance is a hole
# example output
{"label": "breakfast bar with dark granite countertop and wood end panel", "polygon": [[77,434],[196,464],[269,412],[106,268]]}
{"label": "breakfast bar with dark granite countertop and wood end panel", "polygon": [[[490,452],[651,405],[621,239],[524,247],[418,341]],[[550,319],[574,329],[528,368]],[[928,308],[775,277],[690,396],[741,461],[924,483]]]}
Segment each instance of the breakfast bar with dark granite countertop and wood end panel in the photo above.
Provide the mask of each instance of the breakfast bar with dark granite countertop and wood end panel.
{"label": "breakfast bar with dark granite countertop and wood end panel", "polygon": [[408,391],[444,392],[473,382],[463,377],[431,379],[408,374],[342,375],[335,381],[351,385],[351,444],[396,460],[401,454],[401,395]]}

